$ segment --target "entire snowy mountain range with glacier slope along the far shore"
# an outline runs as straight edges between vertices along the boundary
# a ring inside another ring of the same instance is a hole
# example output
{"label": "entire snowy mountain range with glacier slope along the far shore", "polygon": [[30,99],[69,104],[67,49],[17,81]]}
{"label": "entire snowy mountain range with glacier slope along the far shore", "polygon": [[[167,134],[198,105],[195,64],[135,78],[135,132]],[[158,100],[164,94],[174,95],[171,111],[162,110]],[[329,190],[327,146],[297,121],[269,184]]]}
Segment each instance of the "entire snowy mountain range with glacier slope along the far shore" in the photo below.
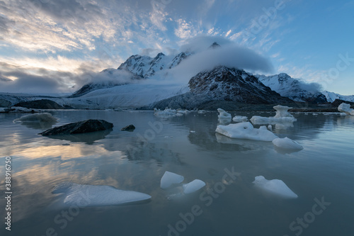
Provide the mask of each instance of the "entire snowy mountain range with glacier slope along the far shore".
{"label": "entire snowy mountain range with glacier slope along the far shore", "polygon": [[[208,50],[219,47],[213,43]],[[285,73],[253,75],[243,69],[225,66],[201,71],[191,77],[188,84],[165,83],[171,69],[178,71],[181,62],[193,55],[194,52],[180,52],[177,55],[160,52],[156,57],[132,55],[117,69],[104,69],[98,73],[105,79],[85,84],[70,96],[51,99],[74,108],[152,108],[156,104],[161,108],[198,108],[200,104],[210,101],[246,104],[289,104],[294,101],[317,104],[333,102],[335,99],[354,101],[354,96],[342,96],[329,91],[321,93],[314,84],[306,84]],[[0,79],[5,81],[7,78]],[[149,84],[151,79],[161,83]],[[2,99],[7,104],[4,96]],[[13,97],[11,99],[14,100]],[[31,99],[27,96],[22,100]]]}

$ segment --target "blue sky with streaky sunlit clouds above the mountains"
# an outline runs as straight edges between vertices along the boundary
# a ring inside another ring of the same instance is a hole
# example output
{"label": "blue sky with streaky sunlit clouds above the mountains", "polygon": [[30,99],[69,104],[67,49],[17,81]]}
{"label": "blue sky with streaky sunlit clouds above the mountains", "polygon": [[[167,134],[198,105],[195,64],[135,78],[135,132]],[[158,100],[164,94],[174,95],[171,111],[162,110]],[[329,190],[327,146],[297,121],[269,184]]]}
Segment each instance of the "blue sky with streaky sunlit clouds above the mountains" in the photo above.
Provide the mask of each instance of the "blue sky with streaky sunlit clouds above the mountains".
{"label": "blue sky with streaky sunlit clouds above the mountains", "polygon": [[269,58],[264,74],[354,94],[353,12],[354,1],[0,0],[0,78],[16,84],[0,91],[73,91],[87,73],[204,35]]}

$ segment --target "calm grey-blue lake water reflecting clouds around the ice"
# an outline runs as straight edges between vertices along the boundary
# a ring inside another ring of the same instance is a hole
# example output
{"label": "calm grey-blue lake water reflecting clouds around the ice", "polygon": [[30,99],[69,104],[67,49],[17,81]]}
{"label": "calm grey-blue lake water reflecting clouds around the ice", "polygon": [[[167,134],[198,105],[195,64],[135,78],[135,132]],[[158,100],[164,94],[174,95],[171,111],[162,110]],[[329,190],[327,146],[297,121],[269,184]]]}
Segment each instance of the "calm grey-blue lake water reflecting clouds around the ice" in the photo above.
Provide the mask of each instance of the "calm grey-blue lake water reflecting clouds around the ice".
{"label": "calm grey-blue lake water reflecting clouds around the ice", "polygon": [[[13,168],[11,232],[5,230],[1,197],[1,235],[353,235],[354,117],[295,113],[294,127],[275,133],[296,140],[304,150],[284,153],[271,142],[215,135],[217,113],[169,119],[150,111],[50,113],[60,119],[57,125],[94,118],[115,127],[110,133],[61,140],[38,135],[52,125],[13,124],[21,114],[0,114],[1,196],[5,156]],[[129,124],[136,126],[134,132],[120,131]],[[228,186],[222,182],[225,169],[237,172]],[[207,186],[173,197],[174,192],[159,188],[165,171]],[[299,198],[256,189],[252,181],[260,175],[281,179]],[[62,181],[139,191],[152,201],[79,208],[65,218],[72,209],[62,195],[51,193]]]}

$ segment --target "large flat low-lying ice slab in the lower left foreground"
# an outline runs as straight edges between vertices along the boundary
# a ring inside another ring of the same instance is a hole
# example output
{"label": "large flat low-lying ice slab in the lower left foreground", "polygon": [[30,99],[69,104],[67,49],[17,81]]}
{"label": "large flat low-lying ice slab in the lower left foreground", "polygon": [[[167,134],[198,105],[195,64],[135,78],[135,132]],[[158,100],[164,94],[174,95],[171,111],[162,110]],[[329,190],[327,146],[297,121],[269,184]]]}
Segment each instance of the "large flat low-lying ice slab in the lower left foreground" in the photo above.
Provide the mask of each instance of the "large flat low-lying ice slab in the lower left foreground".
{"label": "large flat low-lying ice slab in the lower left foreground", "polygon": [[64,203],[76,206],[108,206],[145,201],[148,194],[136,191],[115,189],[113,186],[85,185],[64,182],[55,187],[52,193],[64,193]]}

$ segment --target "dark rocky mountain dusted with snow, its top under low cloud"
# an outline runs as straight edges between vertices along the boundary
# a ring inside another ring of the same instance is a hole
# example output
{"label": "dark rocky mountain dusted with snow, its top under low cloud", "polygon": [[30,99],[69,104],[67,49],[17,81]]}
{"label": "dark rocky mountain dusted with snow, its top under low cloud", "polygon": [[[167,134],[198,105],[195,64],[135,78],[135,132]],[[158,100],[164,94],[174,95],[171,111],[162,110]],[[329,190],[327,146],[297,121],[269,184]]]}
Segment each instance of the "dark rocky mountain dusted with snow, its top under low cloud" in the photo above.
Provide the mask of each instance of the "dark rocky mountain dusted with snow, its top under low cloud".
{"label": "dark rocky mountain dusted with snow, its top under low cloud", "polygon": [[193,94],[202,94],[219,101],[239,101],[250,104],[290,103],[243,69],[224,66],[200,72],[189,81]]}

